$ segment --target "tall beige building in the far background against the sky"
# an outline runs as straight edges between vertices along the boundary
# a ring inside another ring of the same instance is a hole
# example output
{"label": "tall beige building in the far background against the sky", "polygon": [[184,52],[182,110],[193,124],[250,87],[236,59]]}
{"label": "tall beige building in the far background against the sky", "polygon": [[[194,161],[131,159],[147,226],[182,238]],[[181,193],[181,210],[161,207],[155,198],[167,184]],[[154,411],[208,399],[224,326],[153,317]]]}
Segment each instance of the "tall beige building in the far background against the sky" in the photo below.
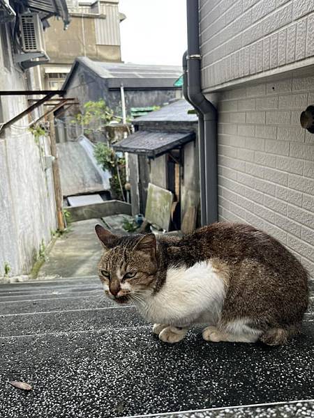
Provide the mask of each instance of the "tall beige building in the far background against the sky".
{"label": "tall beige building in the far background against the sky", "polygon": [[45,49],[50,61],[43,65],[46,88],[61,88],[77,56],[94,61],[121,62],[119,0],[68,1],[70,26],[50,19],[45,31]]}

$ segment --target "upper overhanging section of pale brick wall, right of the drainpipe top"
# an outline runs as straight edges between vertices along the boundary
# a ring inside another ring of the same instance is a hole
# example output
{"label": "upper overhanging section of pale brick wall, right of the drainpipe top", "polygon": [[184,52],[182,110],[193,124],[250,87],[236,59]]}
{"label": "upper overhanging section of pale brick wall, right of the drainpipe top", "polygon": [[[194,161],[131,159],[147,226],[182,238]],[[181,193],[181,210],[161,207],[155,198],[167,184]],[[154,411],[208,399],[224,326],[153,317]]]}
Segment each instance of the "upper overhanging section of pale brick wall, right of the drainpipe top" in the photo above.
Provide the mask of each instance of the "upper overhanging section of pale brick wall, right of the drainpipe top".
{"label": "upper overhanging section of pale brick wall, right of the drainpipe top", "polygon": [[[290,69],[313,60],[313,0],[200,0],[202,84]],[[312,62],[313,63],[313,62]]]}

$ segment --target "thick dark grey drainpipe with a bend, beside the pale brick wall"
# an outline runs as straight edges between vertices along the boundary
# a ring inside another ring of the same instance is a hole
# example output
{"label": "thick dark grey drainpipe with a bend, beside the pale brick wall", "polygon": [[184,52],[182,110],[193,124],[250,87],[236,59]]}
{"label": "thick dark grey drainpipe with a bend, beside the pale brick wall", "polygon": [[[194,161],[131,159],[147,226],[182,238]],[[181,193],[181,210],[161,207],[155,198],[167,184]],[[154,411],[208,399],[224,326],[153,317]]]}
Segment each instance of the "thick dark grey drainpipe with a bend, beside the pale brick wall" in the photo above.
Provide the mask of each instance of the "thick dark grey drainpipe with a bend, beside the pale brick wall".
{"label": "thick dark grey drainpipe with a bend, beside the pale brick wall", "polygon": [[188,21],[187,94],[199,113],[199,153],[202,225],[218,220],[217,110],[202,93],[197,0],[186,0]]}

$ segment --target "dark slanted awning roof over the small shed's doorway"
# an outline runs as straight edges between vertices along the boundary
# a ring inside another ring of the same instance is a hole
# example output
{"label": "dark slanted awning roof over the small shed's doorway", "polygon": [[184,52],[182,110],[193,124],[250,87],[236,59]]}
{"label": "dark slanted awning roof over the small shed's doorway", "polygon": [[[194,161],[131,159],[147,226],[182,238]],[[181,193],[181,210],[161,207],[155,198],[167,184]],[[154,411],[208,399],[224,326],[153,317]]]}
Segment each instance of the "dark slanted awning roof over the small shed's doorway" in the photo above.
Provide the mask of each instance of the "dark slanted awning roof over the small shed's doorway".
{"label": "dark slanted awning roof over the small shed's doorway", "polygon": [[114,144],[114,149],[124,153],[158,157],[167,151],[183,146],[195,139],[195,132],[160,132],[140,130]]}

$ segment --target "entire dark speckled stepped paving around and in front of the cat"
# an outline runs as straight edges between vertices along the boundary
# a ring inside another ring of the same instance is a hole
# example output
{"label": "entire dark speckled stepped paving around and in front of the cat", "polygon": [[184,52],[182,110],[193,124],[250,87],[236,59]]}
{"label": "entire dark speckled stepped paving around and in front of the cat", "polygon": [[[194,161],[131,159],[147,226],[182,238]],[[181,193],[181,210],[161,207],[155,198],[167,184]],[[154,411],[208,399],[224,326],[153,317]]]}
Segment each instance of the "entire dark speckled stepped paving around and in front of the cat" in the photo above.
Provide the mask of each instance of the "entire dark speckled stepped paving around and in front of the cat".
{"label": "entire dark speckled stepped paving around and in front of the cat", "polygon": [[199,329],[168,345],[96,276],[2,285],[0,417],[314,417],[311,302],[287,346],[209,343]]}

